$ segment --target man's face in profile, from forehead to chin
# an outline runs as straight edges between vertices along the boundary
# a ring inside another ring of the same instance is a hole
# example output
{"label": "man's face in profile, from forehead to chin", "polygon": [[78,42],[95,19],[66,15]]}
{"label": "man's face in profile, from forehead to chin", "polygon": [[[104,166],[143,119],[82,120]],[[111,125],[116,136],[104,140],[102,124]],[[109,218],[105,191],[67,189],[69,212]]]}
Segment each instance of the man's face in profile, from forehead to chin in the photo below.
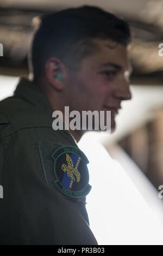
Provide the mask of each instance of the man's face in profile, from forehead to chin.
{"label": "man's face in profile, from forehead to chin", "polygon": [[[80,70],[73,73],[69,101],[72,110],[111,111],[111,130],[123,100],[131,99],[131,73],[128,48],[111,40],[96,39],[96,53],[83,59]],[[106,117],[106,115],[105,115]]]}

